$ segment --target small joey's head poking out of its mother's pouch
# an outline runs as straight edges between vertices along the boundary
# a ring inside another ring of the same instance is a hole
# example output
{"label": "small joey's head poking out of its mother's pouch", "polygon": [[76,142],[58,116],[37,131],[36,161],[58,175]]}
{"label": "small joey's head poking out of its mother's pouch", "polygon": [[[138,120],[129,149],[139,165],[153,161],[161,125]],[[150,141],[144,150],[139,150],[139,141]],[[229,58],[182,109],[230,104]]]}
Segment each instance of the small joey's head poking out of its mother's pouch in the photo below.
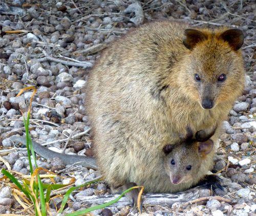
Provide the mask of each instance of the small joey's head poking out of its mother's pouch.
{"label": "small joey's head poking out of its mother's pouch", "polygon": [[164,168],[173,184],[193,181],[198,175],[201,164],[214,146],[214,142],[208,137],[200,131],[197,132],[196,139],[168,144],[163,148]]}

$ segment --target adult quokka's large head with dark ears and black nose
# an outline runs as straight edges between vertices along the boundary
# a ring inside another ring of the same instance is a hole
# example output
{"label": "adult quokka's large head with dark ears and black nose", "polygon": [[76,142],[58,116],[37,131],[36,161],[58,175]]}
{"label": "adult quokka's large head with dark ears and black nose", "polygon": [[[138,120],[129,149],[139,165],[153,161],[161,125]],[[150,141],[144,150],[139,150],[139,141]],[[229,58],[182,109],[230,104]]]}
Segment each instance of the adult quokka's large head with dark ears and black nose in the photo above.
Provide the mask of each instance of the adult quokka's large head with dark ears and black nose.
{"label": "adult quokka's large head with dark ears and black nose", "polygon": [[240,48],[243,32],[238,29],[186,29],[187,49],[181,85],[203,109],[233,100],[244,88],[244,67]]}

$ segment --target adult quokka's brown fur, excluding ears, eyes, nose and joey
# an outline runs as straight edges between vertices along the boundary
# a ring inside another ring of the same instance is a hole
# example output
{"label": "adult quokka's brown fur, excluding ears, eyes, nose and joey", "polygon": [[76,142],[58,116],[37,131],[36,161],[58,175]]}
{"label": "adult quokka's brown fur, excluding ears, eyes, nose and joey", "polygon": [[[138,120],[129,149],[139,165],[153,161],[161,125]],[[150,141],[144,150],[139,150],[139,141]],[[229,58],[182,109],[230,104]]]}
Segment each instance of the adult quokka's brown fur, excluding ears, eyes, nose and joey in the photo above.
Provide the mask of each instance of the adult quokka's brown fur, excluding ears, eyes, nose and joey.
{"label": "adult quokka's brown fur, excluding ears, eyes, nose and joey", "polygon": [[[212,166],[220,125],[244,87],[243,38],[225,28],[185,29],[191,27],[170,21],[143,25],[113,42],[89,74],[86,106],[97,165],[113,187],[135,182],[150,192],[180,191]],[[223,73],[226,80],[217,82]],[[212,109],[202,108],[207,95]],[[162,149],[178,143],[187,125],[194,132],[217,125],[214,150],[197,176],[174,185]]]}

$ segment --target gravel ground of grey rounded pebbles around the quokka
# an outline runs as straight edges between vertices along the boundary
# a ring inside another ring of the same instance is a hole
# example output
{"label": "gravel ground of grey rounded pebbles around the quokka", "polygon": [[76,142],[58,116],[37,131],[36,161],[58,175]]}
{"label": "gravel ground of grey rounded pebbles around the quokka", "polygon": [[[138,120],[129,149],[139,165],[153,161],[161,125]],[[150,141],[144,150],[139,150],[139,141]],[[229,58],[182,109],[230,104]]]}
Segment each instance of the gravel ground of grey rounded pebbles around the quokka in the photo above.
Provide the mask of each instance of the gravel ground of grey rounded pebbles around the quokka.
{"label": "gravel ground of grey rounded pebbles around the quokka", "polygon": [[[12,6],[12,7],[10,7]],[[85,115],[81,87],[99,51],[130,28],[159,19],[185,19],[194,26],[239,27],[245,33],[242,47],[246,88],[235,102],[227,121],[223,123],[221,144],[215,157],[213,172],[223,177],[225,196],[231,203],[216,199],[187,205],[177,210],[173,206],[148,206],[144,212],[151,215],[255,215],[255,137],[256,137],[256,72],[255,72],[255,14],[254,1],[2,1],[1,2],[1,95],[0,155],[13,171],[29,174],[27,152],[24,146],[14,146],[9,137],[24,135],[23,112],[26,115],[31,92],[15,97],[20,89],[37,86],[32,102],[30,133],[34,140],[45,143],[69,138],[89,128]],[[6,31],[22,30],[8,34]],[[253,35],[254,33],[254,35]],[[55,142],[51,149],[68,154],[92,156],[90,134],[68,142]],[[8,150],[10,149],[10,150]],[[8,150],[8,151],[7,151]],[[6,152],[7,151],[7,152]],[[3,160],[0,167],[7,168]],[[59,160],[37,164],[55,170],[67,183],[75,178],[75,185],[93,179],[99,174],[81,166],[66,167]],[[2,175],[2,174],[0,174]],[[0,176],[3,177],[3,176]],[[44,180],[45,183],[48,180]],[[23,208],[12,196],[12,188],[0,183],[0,214],[19,213]],[[108,195],[109,188],[100,182],[83,188],[82,196]],[[66,212],[88,205],[73,193]],[[60,200],[56,198],[55,203]],[[50,207],[54,210],[53,202]],[[109,209],[109,210],[108,210]],[[135,215],[137,210],[125,206],[95,211],[101,215]]]}

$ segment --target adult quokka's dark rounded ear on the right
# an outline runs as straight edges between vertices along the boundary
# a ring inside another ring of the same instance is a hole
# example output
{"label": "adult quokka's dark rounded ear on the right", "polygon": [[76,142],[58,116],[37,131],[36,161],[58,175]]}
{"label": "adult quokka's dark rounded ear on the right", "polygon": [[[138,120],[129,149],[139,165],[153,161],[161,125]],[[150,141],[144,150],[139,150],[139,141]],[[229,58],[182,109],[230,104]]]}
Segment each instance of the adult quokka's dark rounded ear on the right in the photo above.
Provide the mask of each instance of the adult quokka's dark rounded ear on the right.
{"label": "adult quokka's dark rounded ear on the right", "polygon": [[220,37],[227,41],[229,46],[235,51],[239,50],[244,43],[244,34],[239,29],[226,30],[220,35]]}

